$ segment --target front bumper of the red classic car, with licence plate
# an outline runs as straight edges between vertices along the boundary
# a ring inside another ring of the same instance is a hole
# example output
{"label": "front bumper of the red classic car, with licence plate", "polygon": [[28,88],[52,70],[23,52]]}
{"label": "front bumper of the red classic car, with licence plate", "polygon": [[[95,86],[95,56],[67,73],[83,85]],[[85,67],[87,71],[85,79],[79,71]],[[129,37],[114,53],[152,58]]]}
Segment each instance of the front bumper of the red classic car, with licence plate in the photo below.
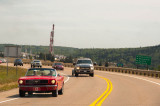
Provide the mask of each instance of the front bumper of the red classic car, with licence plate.
{"label": "front bumper of the red classic car, with licence plate", "polygon": [[19,85],[19,89],[22,91],[53,91],[57,89],[57,85]]}

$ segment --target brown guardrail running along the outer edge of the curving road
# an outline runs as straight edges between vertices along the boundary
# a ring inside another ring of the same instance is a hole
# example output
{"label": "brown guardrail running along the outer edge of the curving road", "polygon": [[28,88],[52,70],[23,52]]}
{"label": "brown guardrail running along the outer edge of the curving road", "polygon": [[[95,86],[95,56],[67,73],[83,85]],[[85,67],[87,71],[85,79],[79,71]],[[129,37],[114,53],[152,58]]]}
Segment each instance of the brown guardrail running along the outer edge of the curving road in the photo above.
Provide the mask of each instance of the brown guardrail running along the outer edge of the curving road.
{"label": "brown guardrail running along the outer edge of the curving road", "polygon": [[[30,62],[24,62],[24,64],[30,64]],[[52,66],[52,62],[42,62],[45,66]],[[63,63],[65,67],[73,68],[74,65],[71,63]],[[134,75],[142,75],[154,78],[160,78],[160,71],[154,70],[141,70],[141,69],[132,69],[132,68],[121,68],[121,67],[103,67],[103,66],[95,66],[95,70],[99,71],[108,71],[108,72],[118,72],[118,73],[126,73],[126,74],[134,74]]]}

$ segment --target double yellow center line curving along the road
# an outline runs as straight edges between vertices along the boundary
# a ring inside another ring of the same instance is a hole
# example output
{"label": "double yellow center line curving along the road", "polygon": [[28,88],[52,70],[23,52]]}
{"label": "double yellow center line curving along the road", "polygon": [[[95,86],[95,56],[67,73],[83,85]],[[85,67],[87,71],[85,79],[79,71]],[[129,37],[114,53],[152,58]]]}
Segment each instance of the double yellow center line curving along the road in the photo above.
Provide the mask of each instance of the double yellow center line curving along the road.
{"label": "double yellow center line curving along the road", "polygon": [[90,106],[101,106],[104,100],[108,97],[108,95],[112,92],[112,89],[113,89],[112,82],[109,79],[106,79],[99,75],[96,75],[96,76],[104,79],[107,82],[107,89],[99,98],[97,98],[92,104],[90,104]]}

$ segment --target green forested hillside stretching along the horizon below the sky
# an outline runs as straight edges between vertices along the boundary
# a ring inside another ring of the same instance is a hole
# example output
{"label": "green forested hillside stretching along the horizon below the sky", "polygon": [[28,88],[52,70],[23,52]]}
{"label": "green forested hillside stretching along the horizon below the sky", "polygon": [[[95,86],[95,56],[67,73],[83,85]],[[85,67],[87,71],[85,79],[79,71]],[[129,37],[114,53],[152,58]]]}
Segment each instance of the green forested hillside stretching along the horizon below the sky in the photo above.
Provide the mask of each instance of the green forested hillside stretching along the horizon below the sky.
{"label": "green forested hillside stretching along the horizon below the sky", "polygon": [[[8,44],[7,44],[8,45]],[[13,44],[10,44],[13,45]],[[0,44],[0,51],[4,51],[6,44]],[[48,46],[34,46],[34,45],[22,45],[22,51],[25,49],[32,53],[48,53]],[[142,47],[142,48],[120,48],[120,49],[78,49],[71,47],[59,47],[55,46],[55,54],[62,54],[65,56],[77,57],[88,57],[96,61],[97,63],[104,62],[116,62],[123,63],[127,67],[136,68],[135,59],[136,55],[145,55],[152,57],[152,64],[149,66],[150,69],[157,69],[160,66],[160,45]],[[142,66],[144,68],[145,66]]]}

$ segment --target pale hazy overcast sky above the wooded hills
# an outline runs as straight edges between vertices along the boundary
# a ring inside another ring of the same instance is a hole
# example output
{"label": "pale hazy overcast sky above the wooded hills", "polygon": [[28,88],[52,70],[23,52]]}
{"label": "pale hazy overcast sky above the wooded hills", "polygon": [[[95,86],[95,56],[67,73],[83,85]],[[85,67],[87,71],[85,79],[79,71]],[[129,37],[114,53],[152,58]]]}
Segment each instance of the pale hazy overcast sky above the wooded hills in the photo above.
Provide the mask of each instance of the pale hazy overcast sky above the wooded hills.
{"label": "pale hazy overcast sky above the wooded hills", "polygon": [[0,0],[0,44],[134,48],[160,44],[160,0]]}

